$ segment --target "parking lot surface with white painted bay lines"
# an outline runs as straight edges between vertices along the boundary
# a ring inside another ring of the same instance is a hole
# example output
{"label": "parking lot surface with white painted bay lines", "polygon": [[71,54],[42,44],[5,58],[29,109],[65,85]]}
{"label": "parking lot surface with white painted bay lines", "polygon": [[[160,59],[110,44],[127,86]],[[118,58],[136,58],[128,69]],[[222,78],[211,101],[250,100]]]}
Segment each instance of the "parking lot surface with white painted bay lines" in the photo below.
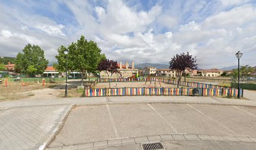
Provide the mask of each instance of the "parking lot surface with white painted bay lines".
{"label": "parking lot surface with white painted bay lines", "polygon": [[224,141],[250,137],[249,140],[253,141],[256,137],[256,108],[210,104],[80,106],[73,108],[49,148],[100,141],[108,143],[111,140],[120,140],[121,143],[131,138],[137,143],[136,139],[142,140],[145,136],[159,136],[161,140],[164,135],[174,138],[183,135],[184,139],[196,135],[198,139],[211,140],[221,137]]}

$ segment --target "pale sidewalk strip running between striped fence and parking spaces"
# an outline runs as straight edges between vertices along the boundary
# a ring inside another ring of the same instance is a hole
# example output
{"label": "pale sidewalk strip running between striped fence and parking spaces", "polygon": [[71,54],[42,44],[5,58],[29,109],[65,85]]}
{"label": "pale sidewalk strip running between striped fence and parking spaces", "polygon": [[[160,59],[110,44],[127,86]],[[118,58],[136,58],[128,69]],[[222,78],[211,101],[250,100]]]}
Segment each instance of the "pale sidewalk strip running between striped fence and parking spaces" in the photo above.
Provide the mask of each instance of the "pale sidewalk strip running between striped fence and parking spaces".
{"label": "pale sidewalk strip running between striped fence and parking spaces", "polygon": [[[253,93],[254,94],[254,93]],[[254,95],[250,99],[232,99],[210,96],[112,96],[112,97],[91,97],[91,98],[60,98],[45,100],[16,100],[0,102],[0,110],[28,106],[51,106],[67,104],[113,104],[113,103],[196,103],[196,104],[232,104],[256,106]]]}

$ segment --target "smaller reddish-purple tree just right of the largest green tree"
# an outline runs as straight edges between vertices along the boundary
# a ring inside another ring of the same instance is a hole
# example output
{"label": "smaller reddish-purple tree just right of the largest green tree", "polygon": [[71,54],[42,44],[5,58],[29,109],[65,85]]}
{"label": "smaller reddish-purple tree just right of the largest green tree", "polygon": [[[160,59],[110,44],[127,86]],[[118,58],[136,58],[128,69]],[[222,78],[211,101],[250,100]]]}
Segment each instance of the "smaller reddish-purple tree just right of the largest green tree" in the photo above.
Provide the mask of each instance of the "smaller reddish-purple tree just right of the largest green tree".
{"label": "smaller reddish-purple tree just right of the largest green tree", "polygon": [[110,88],[110,79],[112,78],[112,75],[115,73],[119,73],[117,70],[117,61],[109,60],[109,59],[103,59],[100,61],[100,64],[98,66],[99,71],[105,71],[107,73],[107,76],[109,78],[109,88]]}

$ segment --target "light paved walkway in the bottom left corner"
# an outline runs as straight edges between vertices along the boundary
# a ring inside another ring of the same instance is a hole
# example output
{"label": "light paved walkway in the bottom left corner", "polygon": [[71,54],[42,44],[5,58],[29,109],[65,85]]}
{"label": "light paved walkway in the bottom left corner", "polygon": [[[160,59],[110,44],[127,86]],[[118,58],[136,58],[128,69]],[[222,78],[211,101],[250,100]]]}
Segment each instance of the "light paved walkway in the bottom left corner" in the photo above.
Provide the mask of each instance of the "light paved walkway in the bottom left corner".
{"label": "light paved walkway in the bottom left corner", "polygon": [[0,149],[43,149],[70,106],[10,108],[0,113]]}

